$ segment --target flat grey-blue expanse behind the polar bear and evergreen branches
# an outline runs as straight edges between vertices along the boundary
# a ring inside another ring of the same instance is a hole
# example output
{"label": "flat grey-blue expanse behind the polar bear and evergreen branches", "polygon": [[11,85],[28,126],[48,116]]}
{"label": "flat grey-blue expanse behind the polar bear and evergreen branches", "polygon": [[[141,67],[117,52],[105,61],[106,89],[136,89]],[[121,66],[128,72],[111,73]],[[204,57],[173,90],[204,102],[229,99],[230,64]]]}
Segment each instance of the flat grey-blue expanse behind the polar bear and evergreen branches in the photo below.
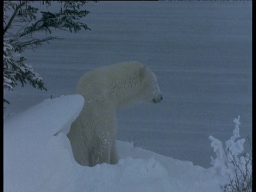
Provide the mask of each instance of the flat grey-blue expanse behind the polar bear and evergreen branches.
{"label": "flat grey-blue expanse behind the polar bear and evergreen branches", "polygon": [[23,53],[48,91],[30,85],[5,91],[11,102],[5,116],[73,94],[79,77],[93,68],[137,60],[154,71],[164,99],[118,111],[118,140],[207,168],[215,157],[209,135],[225,146],[238,115],[241,138],[252,138],[252,2],[107,1],[85,7],[90,13],[83,21],[91,31],[56,30],[53,35],[64,40]]}

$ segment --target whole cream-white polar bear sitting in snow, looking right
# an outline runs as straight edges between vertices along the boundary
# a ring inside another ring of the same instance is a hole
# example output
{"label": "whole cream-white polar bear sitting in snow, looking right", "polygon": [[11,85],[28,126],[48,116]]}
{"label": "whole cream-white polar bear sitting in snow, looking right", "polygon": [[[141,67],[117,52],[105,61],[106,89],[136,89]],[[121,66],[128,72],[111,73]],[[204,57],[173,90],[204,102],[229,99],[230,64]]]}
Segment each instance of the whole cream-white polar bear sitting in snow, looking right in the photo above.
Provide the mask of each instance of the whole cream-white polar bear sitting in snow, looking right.
{"label": "whole cream-white polar bear sitting in snow, looking right", "polygon": [[67,134],[75,160],[85,166],[117,164],[116,111],[138,102],[163,99],[155,74],[137,61],[89,71],[79,79],[76,94],[84,108]]}

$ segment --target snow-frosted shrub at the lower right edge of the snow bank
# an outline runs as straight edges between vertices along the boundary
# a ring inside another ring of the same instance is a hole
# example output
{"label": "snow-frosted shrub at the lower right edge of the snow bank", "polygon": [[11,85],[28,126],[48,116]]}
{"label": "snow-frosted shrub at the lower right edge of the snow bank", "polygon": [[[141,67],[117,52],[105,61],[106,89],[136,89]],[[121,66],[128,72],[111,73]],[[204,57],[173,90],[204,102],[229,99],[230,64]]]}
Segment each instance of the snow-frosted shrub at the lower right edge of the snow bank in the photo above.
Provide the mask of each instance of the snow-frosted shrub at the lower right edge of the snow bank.
{"label": "snow-frosted shrub at the lower right edge of the snow bank", "polygon": [[[243,155],[245,139],[238,139],[239,119],[234,119],[235,129],[233,136],[226,141],[226,148],[223,150],[222,142],[210,136],[211,147],[213,147],[216,158],[211,157],[211,164],[218,174],[228,179],[225,186],[221,186],[222,191],[252,191],[252,157],[249,153]],[[248,137],[249,143],[251,143]],[[250,145],[250,144],[249,144]],[[252,146],[250,145],[252,149]]]}

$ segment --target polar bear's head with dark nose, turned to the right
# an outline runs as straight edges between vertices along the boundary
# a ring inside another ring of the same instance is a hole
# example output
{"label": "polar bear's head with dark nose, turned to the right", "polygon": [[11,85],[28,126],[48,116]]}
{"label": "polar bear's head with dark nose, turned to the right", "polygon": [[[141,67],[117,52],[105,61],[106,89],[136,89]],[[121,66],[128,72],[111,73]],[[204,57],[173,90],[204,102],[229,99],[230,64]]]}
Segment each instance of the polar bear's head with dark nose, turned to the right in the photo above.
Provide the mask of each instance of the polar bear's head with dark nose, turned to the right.
{"label": "polar bear's head with dark nose, turned to the right", "polygon": [[139,77],[141,79],[141,99],[148,103],[159,103],[163,99],[163,95],[159,89],[156,75],[146,66],[139,69]]}

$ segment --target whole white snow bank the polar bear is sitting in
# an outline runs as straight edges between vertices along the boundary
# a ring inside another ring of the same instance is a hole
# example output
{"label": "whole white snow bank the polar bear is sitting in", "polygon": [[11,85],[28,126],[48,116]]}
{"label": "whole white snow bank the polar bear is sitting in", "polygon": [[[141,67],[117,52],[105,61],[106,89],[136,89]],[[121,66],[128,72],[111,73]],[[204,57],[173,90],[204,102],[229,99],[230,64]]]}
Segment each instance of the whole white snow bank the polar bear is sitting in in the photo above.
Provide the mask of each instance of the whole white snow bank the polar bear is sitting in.
{"label": "whole white snow bank the polar bear is sitting in", "polygon": [[221,175],[117,141],[117,165],[81,166],[66,137],[81,95],[49,99],[4,119],[4,191],[219,191]]}

